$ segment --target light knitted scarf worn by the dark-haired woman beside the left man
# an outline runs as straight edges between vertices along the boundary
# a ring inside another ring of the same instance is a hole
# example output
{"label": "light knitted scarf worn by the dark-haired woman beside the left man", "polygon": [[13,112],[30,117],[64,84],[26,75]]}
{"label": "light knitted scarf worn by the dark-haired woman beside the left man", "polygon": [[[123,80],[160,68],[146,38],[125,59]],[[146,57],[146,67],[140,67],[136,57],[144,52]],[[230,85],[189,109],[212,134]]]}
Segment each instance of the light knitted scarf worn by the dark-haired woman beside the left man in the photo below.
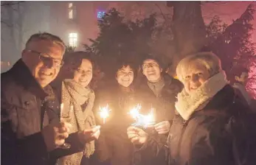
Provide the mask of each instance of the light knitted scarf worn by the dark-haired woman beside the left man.
{"label": "light knitted scarf worn by the dark-haired woman beside the left man", "polygon": [[[94,105],[94,91],[91,88],[84,88],[74,80],[64,80],[62,83],[61,100],[63,103],[63,112],[61,114],[71,117],[72,124],[69,133],[75,133],[84,129],[91,128],[95,125],[94,114],[92,108]],[[73,110],[70,111],[70,106],[73,105]],[[80,161],[83,155],[89,158],[94,152],[94,141],[86,143],[85,150],[83,152],[77,152],[72,155],[67,155],[59,159],[60,164],[77,164],[80,165]]]}

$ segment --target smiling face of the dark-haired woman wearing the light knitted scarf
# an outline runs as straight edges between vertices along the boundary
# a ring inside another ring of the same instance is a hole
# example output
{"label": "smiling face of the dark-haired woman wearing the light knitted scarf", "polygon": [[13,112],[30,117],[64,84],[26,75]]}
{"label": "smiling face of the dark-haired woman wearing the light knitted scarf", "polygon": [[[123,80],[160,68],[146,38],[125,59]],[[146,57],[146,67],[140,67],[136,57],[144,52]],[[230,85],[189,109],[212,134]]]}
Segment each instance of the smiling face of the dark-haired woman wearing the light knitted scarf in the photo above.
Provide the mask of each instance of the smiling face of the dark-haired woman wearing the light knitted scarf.
{"label": "smiling face of the dark-haired woman wearing the light knitted scarf", "polygon": [[74,73],[75,82],[86,87],[89,85],[92,79],[92,64],[91,61],[83,59],[81,65],[76,69]]}

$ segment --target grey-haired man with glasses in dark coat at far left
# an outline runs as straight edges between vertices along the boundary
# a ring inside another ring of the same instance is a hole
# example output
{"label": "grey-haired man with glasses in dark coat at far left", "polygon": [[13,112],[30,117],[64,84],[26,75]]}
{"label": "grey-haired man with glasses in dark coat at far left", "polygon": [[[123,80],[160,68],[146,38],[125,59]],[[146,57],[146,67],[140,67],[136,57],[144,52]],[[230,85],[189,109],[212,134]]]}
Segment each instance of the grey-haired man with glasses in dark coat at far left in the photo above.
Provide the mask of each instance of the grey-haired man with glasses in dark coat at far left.
{"label": "grey-haired man with glasses in dark coat at far left", "polygon": [[[55,164],[84,150],[100,127],[68,133],[49,83],[63,65],[65,45],[49,33],[32,35],[10,71],[1,74],[1,164]],[[61,148],[67,142],[69,149]]]}

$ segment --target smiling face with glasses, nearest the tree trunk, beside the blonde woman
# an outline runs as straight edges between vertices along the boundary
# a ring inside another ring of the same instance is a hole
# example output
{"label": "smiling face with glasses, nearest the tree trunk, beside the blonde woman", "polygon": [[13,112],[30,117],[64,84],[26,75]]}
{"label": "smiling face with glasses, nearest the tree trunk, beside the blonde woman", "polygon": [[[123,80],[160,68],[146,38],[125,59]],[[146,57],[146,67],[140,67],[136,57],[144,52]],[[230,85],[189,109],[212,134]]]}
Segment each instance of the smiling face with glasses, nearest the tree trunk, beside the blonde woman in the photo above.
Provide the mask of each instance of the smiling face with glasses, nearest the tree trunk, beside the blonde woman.
{"label": "smiling face with glasses, nearest the tree trunk, beside the blonde woman", "polygon": [[142,73],[147,77],[148,81],[157,82],[160,80],[162,69],[156,60],[145,60],[142,64],[142,69]]}

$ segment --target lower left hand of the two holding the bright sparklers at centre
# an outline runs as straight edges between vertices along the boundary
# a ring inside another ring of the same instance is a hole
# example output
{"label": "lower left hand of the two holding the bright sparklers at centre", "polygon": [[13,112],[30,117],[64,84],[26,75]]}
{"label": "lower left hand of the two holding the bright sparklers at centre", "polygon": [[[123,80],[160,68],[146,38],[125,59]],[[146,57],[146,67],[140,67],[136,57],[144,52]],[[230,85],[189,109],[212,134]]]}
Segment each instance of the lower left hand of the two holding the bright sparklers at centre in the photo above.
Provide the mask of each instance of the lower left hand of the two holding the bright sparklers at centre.
{"label": "lower left hand of the two holding the bright sparklers at centre", "polygon": [[148,139],[148,133],[138,127],[128,127],[127,135],[133,144],[145,144]]}

